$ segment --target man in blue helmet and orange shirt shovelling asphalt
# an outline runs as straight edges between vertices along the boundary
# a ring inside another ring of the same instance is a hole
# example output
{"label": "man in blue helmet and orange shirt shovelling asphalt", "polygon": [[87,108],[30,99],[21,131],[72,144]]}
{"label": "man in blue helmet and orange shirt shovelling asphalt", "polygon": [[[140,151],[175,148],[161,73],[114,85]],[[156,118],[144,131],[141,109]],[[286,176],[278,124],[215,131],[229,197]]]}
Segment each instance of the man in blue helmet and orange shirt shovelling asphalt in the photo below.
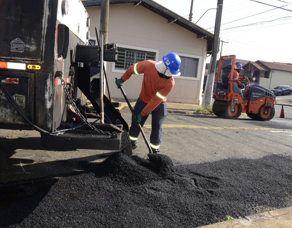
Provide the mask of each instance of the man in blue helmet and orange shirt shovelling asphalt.
{"label": "man in blue helmet and orange shirt shovelling asphalt", "polygon": [[174,87],[173,77],[180,76],[180,57],[177,54],[168,53],[163,56],[162,60],[159,62],[152,60],[137,62],[129,67],[120,79],[116,80],[116,85],[120,88],[134,74],[144,74],[141,92],[134,107],[136,117],[134,118],[132,115],[129,135],[132,148],[137,148],[137,139],[140,133],[137,123],[143,127],[151,112],[150,147],[154,154],[159,152],[162,123],[167,115],[166,96]]}

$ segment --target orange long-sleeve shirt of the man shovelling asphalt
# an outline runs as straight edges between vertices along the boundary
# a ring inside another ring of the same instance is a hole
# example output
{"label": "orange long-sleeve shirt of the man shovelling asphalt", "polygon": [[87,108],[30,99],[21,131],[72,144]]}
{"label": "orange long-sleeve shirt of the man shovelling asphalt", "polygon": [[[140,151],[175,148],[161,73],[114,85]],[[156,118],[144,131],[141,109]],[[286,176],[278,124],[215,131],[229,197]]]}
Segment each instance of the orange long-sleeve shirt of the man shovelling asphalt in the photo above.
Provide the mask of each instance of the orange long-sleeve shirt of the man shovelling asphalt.
{"label": "orange long-sleeve shirt of the man shovelling asphalt", "polygon": [[166,101],[166,96],[174,87],[174,79],[161,78],[155,68],[155,61],[145,60],[135,63],[129,67],[121,76],[121,79],[127,81],[133,74],[144,74],[140,100],[147,103],[141,114],[143,116],[152,112],[162,101]]}

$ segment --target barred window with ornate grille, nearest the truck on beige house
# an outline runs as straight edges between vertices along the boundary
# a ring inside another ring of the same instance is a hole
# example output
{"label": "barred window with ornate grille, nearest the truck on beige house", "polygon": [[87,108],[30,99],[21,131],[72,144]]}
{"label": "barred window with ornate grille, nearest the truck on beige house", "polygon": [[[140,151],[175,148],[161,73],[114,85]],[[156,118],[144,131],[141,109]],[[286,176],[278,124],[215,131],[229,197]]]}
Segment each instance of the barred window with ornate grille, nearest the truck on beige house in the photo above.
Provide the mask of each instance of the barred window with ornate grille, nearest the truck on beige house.
{"label": "barred window with ornate grille, nearest the truck on beige house", "polygon": [[118,61],[115,64],[115,69],[128,69],[137,62],[144,60],[154,60],[155,53],[148,51],[133,50],[128,48],[118,48]]}

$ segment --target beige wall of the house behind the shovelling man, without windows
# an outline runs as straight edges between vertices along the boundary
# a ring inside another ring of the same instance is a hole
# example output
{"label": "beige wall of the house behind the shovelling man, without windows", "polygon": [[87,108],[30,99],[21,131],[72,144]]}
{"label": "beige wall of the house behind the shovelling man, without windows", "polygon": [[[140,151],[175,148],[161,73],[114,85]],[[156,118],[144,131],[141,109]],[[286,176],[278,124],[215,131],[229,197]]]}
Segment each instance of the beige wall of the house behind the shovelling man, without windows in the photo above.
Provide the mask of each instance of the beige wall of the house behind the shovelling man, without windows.
{"label": "beige wall of the house behind the shovelling man, without windows", "polygon": [[[86,7],[91,20],[91,39],[96,39],[95,27],[100,27],[100,6]],[[175,87],[167,96],[169,102],[201,104],[207,42],[197,39],[197,35],[133,3],[112,4],[109,9],[108,43],[117,43],[118,47],[153,51],[156,61],[163,55],[175,52],[178,55],[198,58],[197,78],[175,78]],[[114,69],[114,63],[107,62],[107,79],[112,98],[123,98],[115,85],[125,71]],[[137,99],[141,90],[142,75],[133,75],[124,83],[129,99]]]}

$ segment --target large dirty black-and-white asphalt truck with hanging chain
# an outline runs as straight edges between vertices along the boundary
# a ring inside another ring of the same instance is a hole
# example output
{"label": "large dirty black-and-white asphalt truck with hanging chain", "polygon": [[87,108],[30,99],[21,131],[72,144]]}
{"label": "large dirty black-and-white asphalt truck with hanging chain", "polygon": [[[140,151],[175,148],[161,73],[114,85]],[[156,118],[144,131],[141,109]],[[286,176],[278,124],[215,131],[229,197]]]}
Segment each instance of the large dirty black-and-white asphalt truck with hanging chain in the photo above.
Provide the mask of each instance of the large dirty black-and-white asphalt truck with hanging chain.
{"label": "large dirty black-and-white asphalt truck with hanging chain", "polygon": [[103,93],[103,61],[117,60],[117,46],[89,45],[82,2],[0,6],[0,129],[38,130],[48,147],[119,149],[128,125]]}

